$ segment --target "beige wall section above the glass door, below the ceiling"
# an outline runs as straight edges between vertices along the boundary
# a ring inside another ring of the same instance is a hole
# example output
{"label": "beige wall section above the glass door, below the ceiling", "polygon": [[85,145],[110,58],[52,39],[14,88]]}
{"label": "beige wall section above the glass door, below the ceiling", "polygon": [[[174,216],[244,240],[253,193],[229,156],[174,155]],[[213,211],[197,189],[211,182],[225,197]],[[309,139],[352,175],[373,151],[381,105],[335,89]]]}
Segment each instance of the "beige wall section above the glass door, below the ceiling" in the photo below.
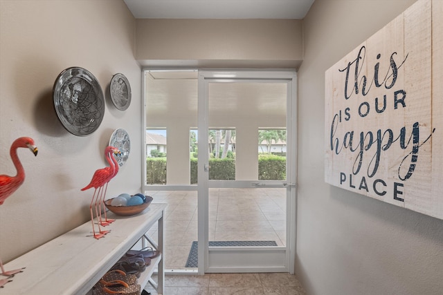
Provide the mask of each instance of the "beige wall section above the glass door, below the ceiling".
{"label": "beige wall section above the glass door, below the ceiling", "polygon": [[296,68],[299,19],[137,19],[136,59],[143,66]]}

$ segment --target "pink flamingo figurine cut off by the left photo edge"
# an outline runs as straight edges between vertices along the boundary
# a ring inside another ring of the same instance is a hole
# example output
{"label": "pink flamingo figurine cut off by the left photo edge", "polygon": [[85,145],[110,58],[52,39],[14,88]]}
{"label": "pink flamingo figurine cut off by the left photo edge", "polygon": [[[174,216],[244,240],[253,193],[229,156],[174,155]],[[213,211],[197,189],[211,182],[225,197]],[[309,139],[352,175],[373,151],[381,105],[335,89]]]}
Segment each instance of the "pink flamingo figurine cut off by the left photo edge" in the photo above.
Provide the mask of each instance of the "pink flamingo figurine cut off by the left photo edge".
{"label": "pink flamingo figurine cut off by the left photo edge", "polygon": [[[20,186],[23,184],[25,180],[25,171],[21,162],[19,160],[19,156],[17,155],[18,148],[28,148],[30,149],[34,155],[37,155],[37,147],[35,147],[34,140],[30,137],[19,137],[17,140],[12,142],[10,148],[10,156],[12,159],[12,163],[14,163],[15,169],[17,169],[17,175],[8,176],[8,175],[0,175],[0,205],[5,202],[6,198],[8,198],[12,193],[14,193]],[[6,283],[10,282],[10,277],[14,276],[19,272],[23,272],[23,268],[14,269],[6,272],[3,268],[3,263],[1,263],[0,259],[0,268],[1,275],[8,276],[8,278],[3,278],[0,280],[0,287],[3,287]]]}

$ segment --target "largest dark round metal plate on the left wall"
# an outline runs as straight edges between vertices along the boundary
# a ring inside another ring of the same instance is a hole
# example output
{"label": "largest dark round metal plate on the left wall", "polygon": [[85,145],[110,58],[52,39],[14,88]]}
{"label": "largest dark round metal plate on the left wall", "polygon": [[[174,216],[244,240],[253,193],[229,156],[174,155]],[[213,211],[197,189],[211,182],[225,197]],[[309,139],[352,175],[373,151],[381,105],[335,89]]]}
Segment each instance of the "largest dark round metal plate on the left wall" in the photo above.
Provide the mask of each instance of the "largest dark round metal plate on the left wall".
{"label": "largest dark round metal plate on the left wall", "polygon": [[55,112],[64,128],[77,136],[93,133],[105,115],[102,88],[88,70],[66,68],[53,87]]}

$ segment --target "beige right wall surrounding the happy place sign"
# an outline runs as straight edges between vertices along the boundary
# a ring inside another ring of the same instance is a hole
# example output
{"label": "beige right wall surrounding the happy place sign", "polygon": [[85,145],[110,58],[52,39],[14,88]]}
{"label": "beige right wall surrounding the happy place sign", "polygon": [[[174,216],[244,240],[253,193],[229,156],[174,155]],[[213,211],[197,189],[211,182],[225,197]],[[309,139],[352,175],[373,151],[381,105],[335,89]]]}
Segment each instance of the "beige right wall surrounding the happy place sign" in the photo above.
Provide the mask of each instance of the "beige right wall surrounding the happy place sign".
{"label": "beige right wall surrounding the happy place sign", "polygon": [[303,21],[296,274],[310,295],[442,294],[443,220],[324,181],[325,70],[414,2],[316,0]]}

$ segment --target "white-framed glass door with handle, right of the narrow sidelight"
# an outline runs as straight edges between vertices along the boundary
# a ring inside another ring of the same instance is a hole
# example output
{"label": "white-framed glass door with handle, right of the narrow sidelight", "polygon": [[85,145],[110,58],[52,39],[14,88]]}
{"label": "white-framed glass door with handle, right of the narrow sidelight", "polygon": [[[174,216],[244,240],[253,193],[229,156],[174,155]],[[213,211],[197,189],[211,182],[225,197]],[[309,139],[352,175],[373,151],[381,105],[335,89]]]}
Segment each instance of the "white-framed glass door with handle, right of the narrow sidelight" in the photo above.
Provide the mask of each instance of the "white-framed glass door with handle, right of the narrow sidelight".
{"label": "white-framed glass door with handle, right of the narrow sidelight", "polygon": [[296,74],[199,71],[198,96],[199,273],[293,273]]}

